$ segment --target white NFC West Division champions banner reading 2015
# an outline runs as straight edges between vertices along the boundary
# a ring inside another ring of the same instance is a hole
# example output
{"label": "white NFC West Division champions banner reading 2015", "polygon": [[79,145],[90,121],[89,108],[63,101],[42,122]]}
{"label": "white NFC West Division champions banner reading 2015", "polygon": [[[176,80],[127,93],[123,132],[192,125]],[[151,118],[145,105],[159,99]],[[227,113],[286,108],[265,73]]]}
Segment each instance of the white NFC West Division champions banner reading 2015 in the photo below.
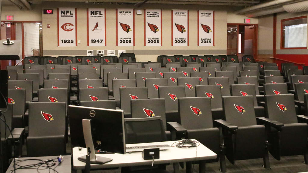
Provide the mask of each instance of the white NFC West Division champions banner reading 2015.
{"label": "white NFC West Division champions banner reading 2015", "polygon": [[214,46],[214,11],[198,10],[198,46]]}

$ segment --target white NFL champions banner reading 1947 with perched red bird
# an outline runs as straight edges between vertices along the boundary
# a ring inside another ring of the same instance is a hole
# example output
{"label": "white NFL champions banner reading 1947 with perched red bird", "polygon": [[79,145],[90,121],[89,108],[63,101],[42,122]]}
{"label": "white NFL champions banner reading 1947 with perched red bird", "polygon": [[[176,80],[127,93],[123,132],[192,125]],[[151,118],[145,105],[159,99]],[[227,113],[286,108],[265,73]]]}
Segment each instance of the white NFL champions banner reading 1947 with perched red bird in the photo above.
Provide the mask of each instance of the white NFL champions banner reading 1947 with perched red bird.
{"label": "white NFL champions banner reading 1947 with perched red bird", "polygon": [[87,9],[88,46],[106,46],[106,9]]}

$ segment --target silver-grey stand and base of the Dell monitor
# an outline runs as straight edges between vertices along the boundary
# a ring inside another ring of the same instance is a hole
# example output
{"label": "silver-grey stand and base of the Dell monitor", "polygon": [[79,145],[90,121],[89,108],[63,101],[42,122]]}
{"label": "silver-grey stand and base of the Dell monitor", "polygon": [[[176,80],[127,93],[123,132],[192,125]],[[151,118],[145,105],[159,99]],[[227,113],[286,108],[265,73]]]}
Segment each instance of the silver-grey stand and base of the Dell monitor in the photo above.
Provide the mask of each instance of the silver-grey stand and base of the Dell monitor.
{"label": "silver-grey stand and base of the Dell monitor", "polygon": [[[94,148],[94,144],[92,140],[92,133],[91,133],[91,119],[83,119],[82,128],[83,128],[84,142],[86,143],[86,150],[90,149],[90,152],[91,152],[91,154],[89,153],[90,163],[101,165],[107,162],[111,162],[112,159],[95,155],[95,148]],[[78,160],[82,162],[87,162],[86,155],[79,157]]]}

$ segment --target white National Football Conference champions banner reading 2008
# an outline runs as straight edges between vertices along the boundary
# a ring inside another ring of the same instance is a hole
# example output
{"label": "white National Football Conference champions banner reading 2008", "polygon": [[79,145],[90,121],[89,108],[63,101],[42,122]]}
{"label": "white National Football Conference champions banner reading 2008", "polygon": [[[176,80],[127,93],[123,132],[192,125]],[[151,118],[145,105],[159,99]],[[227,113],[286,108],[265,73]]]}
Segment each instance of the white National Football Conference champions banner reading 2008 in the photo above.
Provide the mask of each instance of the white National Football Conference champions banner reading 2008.
{"label": "white National Football Conference champions banner reading 2008", "polygon": [[162,46],[162,10],[144,9],[144,46]]}

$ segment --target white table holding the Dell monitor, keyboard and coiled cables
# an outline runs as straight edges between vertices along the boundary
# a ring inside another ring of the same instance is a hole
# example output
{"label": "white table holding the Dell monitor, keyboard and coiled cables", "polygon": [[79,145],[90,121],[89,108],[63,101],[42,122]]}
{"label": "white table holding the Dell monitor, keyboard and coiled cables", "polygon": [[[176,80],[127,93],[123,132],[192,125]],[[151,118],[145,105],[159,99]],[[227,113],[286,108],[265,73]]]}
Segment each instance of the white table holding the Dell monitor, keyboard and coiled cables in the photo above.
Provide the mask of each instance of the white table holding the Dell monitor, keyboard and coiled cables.
{"label": "white table holding the Dell monitor, keyboard and coiled cables", "polygon": [[[197,140],[196,140],[197,141]],[[157,143],[138,143],[138,144],[127,144],[126,147],[132,146],[147,146],[147,145],[172,145],[178,141],[166,141]],[[171,147],[169,150],[160,151],[160,159],[155,159],[154,164],[163,163],[176,163],[179,162],[190,162],[199,160],[200,172],[205,172],[205,160],[216,159],[217,155],[209,148],[205,147],[201,143],[198,147],[192,148],[178,148]],[[82,170],[86,163],[78,160],[78,157],[86,155],[86,148],[82,148],[80,151],[78,147],[73,148],[73,169]],[[152,165],[152,160],[144,160],[141,156],[141,152],[133,152],[126,154],[96,154],[101,157],[107,157],[113,159],[111,162],[103,165],[91,164],[91,169],[103,169],[112,167],[130,167],[130,166],[141,166],[141,165]],[[174,170],[176,172],[176,170]]]}

